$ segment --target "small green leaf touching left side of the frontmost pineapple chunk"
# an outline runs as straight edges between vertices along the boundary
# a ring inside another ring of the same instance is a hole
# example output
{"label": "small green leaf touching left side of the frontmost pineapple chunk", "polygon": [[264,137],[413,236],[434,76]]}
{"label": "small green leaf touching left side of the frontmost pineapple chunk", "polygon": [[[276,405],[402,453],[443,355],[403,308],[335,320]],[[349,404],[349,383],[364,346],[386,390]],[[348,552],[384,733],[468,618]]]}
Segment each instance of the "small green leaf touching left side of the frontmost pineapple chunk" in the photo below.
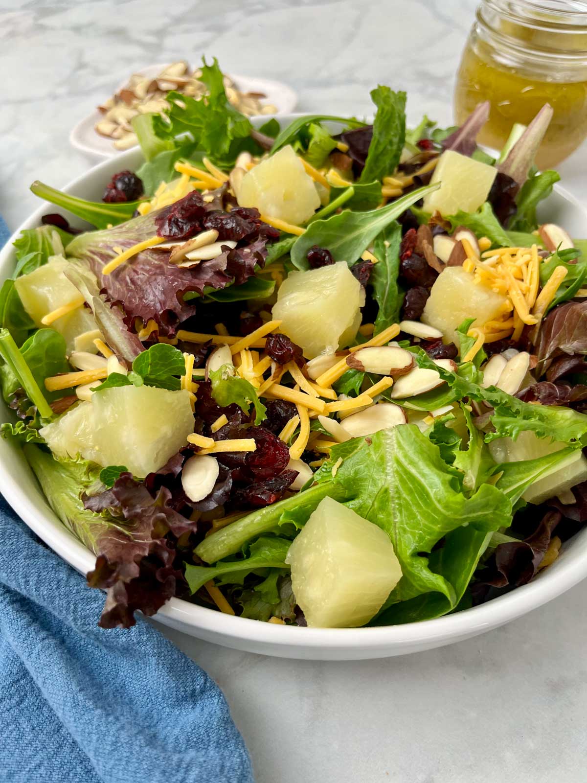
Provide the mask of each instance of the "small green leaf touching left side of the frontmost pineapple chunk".
{"label": "small green leaf touching left side of the frontmost pineapple chunk", "polygon": [[[231,581],[227,579],[227,575],[236,575],[240,572],[239,579],[242,579],[257,568],[287,568],[286,554],[290,544],[289,539],[261,536],[250,545],[249,557],[245,557],[244,560],[217,563],[212,567],[185,565],[185,579],[189,585],[189,592],[193,595],[210,579],[216,579],[218,576],[223,576],[223,582],[227,583]],[[240,583],[242,584],[242,581]],[[264,600],[266,599],[265,594]]]}

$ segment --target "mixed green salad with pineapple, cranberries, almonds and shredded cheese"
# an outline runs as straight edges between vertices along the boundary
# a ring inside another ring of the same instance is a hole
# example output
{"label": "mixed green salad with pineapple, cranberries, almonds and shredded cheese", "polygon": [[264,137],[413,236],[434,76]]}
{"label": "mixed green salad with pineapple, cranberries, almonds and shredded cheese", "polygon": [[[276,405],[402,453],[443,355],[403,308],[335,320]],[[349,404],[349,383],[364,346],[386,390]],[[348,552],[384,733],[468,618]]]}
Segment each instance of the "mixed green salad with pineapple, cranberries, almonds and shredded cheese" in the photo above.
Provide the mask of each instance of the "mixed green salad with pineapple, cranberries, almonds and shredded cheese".
{"label": "mixed green salad with pineapple, cranberries, almonds and shredded cheese", "polygon": [[408,129],[379,86],[372,123],[254,128],[202,73],[101,202],[31,186],[64,214],[0,293],[2,435],[95,554],[100,625],[179,597],[395,626],[528,583],[587,518],[587,243],[536,217],[552,110],[494,157],[484,104]]}

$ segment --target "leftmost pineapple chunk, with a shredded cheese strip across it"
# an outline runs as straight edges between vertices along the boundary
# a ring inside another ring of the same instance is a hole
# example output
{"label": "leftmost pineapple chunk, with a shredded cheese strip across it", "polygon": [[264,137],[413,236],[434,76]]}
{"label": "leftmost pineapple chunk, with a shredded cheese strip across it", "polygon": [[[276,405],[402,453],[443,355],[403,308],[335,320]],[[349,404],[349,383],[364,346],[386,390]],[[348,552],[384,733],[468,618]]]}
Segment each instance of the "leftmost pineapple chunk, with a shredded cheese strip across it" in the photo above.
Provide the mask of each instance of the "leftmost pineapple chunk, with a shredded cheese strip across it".
{"label": "leftmost pineapple chunk, with a shredded cheese strip across it", "polygon": [[[56,310],[70,301],[78,298],[80,292],[63,274],[70,264],[63,255],[54,255],[49,262],[27,275],[17,277],[14,281],[16,292],[20,296],[23,308],[34,321],[36,327],[42,327],[41,319],[49,312]],[[67,351],[74,350],[75,338],[91,330],[95,330],[92,313],[85,307],[78,307],[67,315],[53,321],[51,328],[63,334],[67,343]]]}

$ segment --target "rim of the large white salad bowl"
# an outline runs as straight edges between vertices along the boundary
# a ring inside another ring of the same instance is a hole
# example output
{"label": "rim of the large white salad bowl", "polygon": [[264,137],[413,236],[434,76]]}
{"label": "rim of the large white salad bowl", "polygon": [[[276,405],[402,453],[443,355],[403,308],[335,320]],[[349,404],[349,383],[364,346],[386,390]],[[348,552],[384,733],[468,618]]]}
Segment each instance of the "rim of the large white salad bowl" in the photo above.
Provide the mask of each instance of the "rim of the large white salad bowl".
{"label": "rim of the large white salad bowl", "polygon": [[[284,114],[279,119],[288,121],[299,116],[302,114]],[[88,180],[99,177],[102,171],[109,171],[113,164],[117,166],[122,164],[124,167],[125,161],[136,156],[137,153],[137,148],[133,148],[126,150],[116,158],[101,161],[71,180],[63,190],[69,192],[72,189],[83,187]],[[587,223],[587,209],[583,204],[564,187],[556,184],[554,189],[556,193],[560,194],[560,197],[582,211]],[[14,263],[13,241],[23,229],[38,226],[41,216],[46,213],[47,208],[45,203],[41,204],[22,222],[0,250],[0,283],[12,271],[11,267]],[[45,500],[46,507],[44,514],[39,514],[34,498],[27,496],[20,484],[7,475],[4,464],[7,453],[9,453],[8,449],[3,449],[0,453],[0,478],[2,478],[2,494],[5,499],[27,526],[52,550],[56,551],[70,565],[73,565],[77,571],[88,572],[94,563],[91,551],[67,531],[49,507],[41,489],[39,492]],[[51,521],[49,521],[50,519]],[[587,530],[584,533],[587,536]],[[578,532],[574,538],[581,535],[582,533]],[[587,549],[570,561],[561,559],[554,568],[546,569],[532,582],[517,587],[510,593],[496,597],[485,604],[464,609],[452,615],[396,626],[327,629],[306,627],[302,630],[299,626],[258,622],[254,619],[226,615],[175,597],[164,604],[157,615],[154,615],[154,619],[160,619],[161,622],[180,630],[187,626],[189,629],[202,632],[203,635],[207,633],[209,634],[208,638],[224,637],[224,639],[240,640],[261,648],[267,644],[271,648],[282,648],[283,651],[289,648],[293,651],[292,657],[295,655],[296,648],[299,648],[300,652],[303,648],[307,650],[322,648],[326,651],[381,651],[382,655],[389,655],[392,648],[401,651],[402,648],[407,648],[409,645],[418,645],[424,649],[430,643],[434,646],[440,646],[451,640],[471,637],[484,630],[490,630],[542,606],[547,601],[569,590],[585,577],[587,577]],[[272,651],[268,650],[268,654],[272,654]],[[304,656],[301,655],[301,657]]]}

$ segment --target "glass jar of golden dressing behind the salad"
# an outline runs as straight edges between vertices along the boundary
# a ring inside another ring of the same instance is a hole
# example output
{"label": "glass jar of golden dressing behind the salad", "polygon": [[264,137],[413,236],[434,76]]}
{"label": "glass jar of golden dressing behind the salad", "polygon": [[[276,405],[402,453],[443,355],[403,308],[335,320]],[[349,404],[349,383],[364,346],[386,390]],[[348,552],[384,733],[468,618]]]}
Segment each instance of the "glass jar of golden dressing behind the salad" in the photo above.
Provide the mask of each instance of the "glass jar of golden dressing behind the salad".
{"label": "glass jar of golden dressing behind the salad", "polygon": [[536,163],[549,168],[587,135],[587,2],[482,0],[456,79],[456,121],[488,100],[478,140],[500,149],[545,103],[554,115]]}

